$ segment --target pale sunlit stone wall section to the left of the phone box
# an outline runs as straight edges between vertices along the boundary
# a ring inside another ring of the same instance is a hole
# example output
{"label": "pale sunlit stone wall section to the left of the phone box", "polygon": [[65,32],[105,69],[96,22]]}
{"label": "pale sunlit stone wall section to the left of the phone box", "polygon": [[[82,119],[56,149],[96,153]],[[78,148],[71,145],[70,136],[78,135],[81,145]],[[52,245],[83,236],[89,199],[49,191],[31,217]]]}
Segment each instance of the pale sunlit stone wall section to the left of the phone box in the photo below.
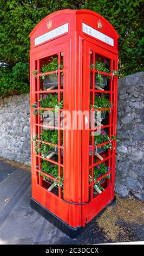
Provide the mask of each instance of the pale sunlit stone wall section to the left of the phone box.
{"label": "pale sunlit stone wall section to the left of the phone box", "polygon": [[0,99],[0,156],[30,165],[29,97]]}

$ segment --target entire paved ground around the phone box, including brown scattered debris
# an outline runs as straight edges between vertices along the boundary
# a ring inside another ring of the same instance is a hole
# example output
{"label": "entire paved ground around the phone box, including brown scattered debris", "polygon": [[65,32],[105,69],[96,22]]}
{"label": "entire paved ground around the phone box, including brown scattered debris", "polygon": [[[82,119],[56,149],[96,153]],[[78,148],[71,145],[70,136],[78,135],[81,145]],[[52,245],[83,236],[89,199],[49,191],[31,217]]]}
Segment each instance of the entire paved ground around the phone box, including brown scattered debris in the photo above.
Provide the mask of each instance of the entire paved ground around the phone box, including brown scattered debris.
{"label": "entire paved ground around the phone box, including brown scattered debris", "polygon": [[[0,244],[91,244],[144,240],[142,215],[132,223],[122,216],[116,217],[117,209],[121,212],[119,208],[124,199],[118,199],[117,206],[109,207],[77,239],[70,239],[30,208],[30,184],[29,167],[0,158]],[[136,205],[141,209],[141,202],[136,200]]]}

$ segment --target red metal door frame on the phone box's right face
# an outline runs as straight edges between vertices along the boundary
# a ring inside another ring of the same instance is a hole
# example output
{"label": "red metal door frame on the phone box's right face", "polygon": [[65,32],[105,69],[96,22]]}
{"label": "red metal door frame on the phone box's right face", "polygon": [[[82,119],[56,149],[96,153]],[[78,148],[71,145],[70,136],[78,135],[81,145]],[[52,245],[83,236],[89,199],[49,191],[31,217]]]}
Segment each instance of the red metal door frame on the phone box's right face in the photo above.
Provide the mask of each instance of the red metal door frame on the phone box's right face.
{"label": "red metal door frame on the phone box's right face", "polygon": [[[115,63],[113,69],[117,69],[117,55],[113,54],[112,52],[103,51],[103,48],[100,48],[97,45],[91,44],[88,41],[83,42],[83,93],[82,93],[82,109],[87,110],[89,109],[90,105],[90,91],[93,92],[93,90],[90,90],[90,51],[94,51],[96,53],[101,54],[101,56],[104,56],[105,58],[112,59]],[[97,72],[97,71],[94,71]],[[109,114],[110,119],[114,118],[113,124],[109,123],[109,125],[105,125],[103,127],[109,127],[110,129],[110,135],[116,135],[116,105],[117,105],[117,81],[116,77],[114,77],[114,80],[111,79],[111,83],[114,84],[114,87],[109,91],[110,100],[112,101],[112,95],[114,94],[114,109]],[[94,92],[101,92],[100,90],[94,90]],[[105,93],[105,91],[102,91]],[[112,94],[111,94],[112,93]],[[103,128],[102,127],[102,128]],[[111,131],[111,127],[113,127],[113,133]],[[92,130],[92,129],[90,129]],[[115,141],[114,141],[114,148],[116,147]],[[91,147],[93,149],[93,147]],[[82,131],[82,202],[87,202],[89,200],[89,168],[93,168],[93,166],[96,166],[96,164],[92,164],[92,166],[89,166],[89,131],[83,130]],[[93,159],[93,156],[92,156]],[[109,157],[105,157],[103,161],[106,161],[108,159],[110,164]],[[81,225],[85,225],[86,222],[89,222],[91,218],[93,218],[96,214],[98,214],[101,209],[103,209],[110,201],[114,198],[114,176],[115,176],[115,149],[112,150],[112,185],[108,181],[108,188],[99,196],[95,197],[94,199],[90,199],[90,203],[87,205],[82,205],[82,217],[81,217]],[[99,161],[99,163],[103,162]],[[93,179],[93,175],[92,175]],[[100,180],[100,179],[99,179]],[[94,202],[94,203],[93,203]]]}

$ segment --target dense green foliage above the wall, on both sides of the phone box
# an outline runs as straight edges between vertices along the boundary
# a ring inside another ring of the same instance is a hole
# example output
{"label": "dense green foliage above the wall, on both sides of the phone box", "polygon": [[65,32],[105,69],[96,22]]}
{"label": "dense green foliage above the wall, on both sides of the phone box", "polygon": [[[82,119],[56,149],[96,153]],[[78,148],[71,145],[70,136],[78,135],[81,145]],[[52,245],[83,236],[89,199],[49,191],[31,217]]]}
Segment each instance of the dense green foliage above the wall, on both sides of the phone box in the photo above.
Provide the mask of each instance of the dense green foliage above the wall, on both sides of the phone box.
{"label": "dense green foliage above the wall, on both sides of the phone box", "polygon": [[[123,76],[143,70],[143,1],[1,0],[0,96],[29,91],[29,33],[45,16],[61,9],[89,9],[105,17],[120,35],[119,70]],[[21,63],[21,67],[17,66]],[[19,77],[17,77],[17,71]]]}

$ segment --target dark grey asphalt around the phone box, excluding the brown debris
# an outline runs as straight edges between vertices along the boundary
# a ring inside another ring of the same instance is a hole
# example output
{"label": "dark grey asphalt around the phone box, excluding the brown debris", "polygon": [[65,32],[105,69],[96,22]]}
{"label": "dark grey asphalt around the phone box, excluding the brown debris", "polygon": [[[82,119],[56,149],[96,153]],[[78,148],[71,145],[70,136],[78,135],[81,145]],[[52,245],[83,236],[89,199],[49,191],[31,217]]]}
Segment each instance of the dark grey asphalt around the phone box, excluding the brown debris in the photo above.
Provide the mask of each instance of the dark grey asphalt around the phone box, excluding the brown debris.
{"label": "dark grey asphalt around the phone box, excluding the brown debris", "polygon": [[[0,158],[0,245],[2,244],[91,244],[114,242],[108,239],[96,221],[76,239],[70,239],[53,224],[30,208],[31,173]],[[128,225],[121,222],[121,225]],[[131,228],[131,227],[130,227]],[[136,225],[132,241],[142,241]],[[130,235],[130,234],[128,234]],[[134,237],[134,238],[133,238]],[[126,241],[126,237],[125,237]]]}

